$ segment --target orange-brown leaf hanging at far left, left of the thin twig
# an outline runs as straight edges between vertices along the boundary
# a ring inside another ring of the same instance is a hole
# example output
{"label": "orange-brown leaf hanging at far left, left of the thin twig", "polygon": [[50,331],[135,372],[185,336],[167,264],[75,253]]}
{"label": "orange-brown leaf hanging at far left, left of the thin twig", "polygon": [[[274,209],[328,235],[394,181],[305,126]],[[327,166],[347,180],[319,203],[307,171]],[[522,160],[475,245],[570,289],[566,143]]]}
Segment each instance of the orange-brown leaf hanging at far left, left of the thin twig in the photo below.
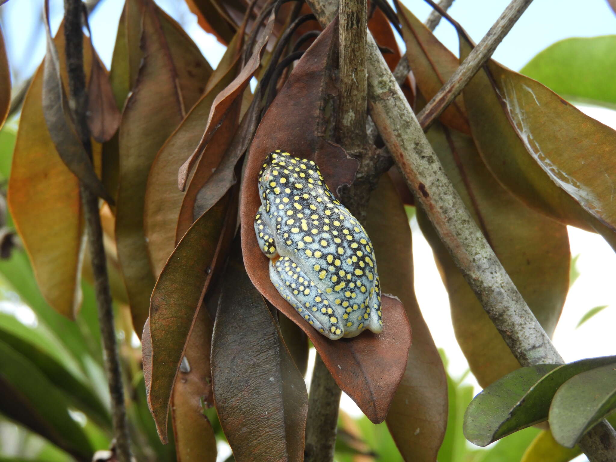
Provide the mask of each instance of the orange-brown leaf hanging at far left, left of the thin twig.
{"label": "orange-brown leaf hanging at far left, left of the thin twig", "polygon": [[[62,27],[54,41],[59,49],[64,48]],[[64,54],[59,59],[65,78]],[[91,59],[90,48],[86,46],[86,77]],[[94,144],[93,148],[95,155],[100,155],[100,145]],[[8,203],[41,293],[57,312],[73,318],[81,304],[83,219],[79,181],[60,159],[47,130],[43,115],[43,65],[34,74],[23,103]]]}

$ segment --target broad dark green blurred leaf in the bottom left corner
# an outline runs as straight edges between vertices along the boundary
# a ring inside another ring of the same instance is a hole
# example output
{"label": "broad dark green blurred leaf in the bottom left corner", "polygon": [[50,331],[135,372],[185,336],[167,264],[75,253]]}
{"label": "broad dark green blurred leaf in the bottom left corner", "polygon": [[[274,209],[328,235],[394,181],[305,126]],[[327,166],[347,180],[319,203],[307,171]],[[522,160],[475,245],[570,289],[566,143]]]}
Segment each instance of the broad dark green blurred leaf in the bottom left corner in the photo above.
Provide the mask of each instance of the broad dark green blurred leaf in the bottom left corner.
{"label": "broad dark green blurred leaf in the bottom left corner", "polygon": [[54,442],[80,461],[92,447],[68,413],[70,402],[25,356],[0,341],[0,411]]}

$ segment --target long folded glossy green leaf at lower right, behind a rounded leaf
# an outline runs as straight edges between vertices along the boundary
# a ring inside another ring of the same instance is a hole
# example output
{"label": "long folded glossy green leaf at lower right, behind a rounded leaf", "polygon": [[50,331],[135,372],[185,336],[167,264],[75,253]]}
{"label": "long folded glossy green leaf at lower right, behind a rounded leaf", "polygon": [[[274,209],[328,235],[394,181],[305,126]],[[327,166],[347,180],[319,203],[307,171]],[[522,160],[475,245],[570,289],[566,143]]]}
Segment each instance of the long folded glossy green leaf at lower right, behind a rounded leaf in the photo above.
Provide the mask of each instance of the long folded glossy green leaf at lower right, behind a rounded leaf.
{"label": "long folded glossy green leaf at lower right, behind a rounded leaf", "polygon": [[486,446],[508,434],[545,421],[559,387],[584,371],[613,363],[616,357],[543,364],[513,371],[478,394],[464,415],[464,436]]}

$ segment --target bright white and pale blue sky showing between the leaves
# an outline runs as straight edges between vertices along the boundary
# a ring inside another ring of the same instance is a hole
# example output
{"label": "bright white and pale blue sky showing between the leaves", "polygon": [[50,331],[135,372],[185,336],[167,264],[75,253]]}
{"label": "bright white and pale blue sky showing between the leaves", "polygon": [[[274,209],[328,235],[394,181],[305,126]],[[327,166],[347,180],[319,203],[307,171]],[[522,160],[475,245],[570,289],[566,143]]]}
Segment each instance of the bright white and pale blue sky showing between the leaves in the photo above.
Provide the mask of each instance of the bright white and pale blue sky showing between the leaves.
{"label": "bright white and pale blue sky showing between the leaves", "polygon": [[[213,36],[201,30],[185,3],[177,0],[156,1],[182,23],[211,65],[216,67],[224,47]],[[403,3],[419,18],[428,17],[430,7],[423,0],[404,0]],[[508,3],[507,0],[456,0],[449,12],[468,31],[472,39],[479,41]],[[51,5],[52,26],[57,27],[62,15],[62,1],[52,0]],[[122,5],[122,0],[103,0],[91,16],[94,44],[107,66],[111,59]],[[17,82],[33,72],[44,54],[42,31],[36,33],[36,22],[27,20],[29,17],[39,17],[41,7],[41,0],[10,0],[0,8],[0,18],[9,49],[9,62],[15,66],[14,80]],[[535,0],[498,46],[494,58],[513,70],[519,70],[535,54],[556,41],[569,37],[605,34],[616,34],[616,15],[609,9],[606,0]],[[442,21],[436,29],[436,36],[457,54],[458,39],[452,26]],[[400,43],[402,44],[401,41]],[[616,128],[614,111],[594,107],[580,108],[588,115]],[[440,281],[431,249],[421,236],[415,219],[411,221],[411,229],[415,265],[421,264],[422,267],[421,272],[415,272],[419,306],[434,341],[438,347],[445,350],[450,359],[450,372],[453,376],[461,376],[468,364],[455,341],[447,293]],[[567,296],[554,334],[554,344],[567,362],[616,354],[616,255],[598,235],[569,228],[569,237],[572,255],[579,255],[577,267],[580,277]],[[607,309],[580,328],[575,328],[583,314],[602,305],[607,305]],[[309,379],[308,376],[307,384]],[[472,375],[469,375],[466,381],[476,386],[476,392],[480,391]],[[360,413],[359,408],[348,397],[343,397],[342,407],[352,415]],[[224,455],[227,450],[221,449]]]}

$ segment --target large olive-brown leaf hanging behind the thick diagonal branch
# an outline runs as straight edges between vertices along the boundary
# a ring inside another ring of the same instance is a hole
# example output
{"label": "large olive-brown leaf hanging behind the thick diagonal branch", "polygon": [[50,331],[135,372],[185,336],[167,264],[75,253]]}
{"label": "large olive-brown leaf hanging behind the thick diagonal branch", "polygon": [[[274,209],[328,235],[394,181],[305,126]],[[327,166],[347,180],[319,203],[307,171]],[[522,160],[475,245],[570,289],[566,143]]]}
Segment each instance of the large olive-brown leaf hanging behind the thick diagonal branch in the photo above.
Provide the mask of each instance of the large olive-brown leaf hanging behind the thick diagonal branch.
{"label": "large olive-brown leaf hanging behind the thick diagonal branch", "polygon": [[[447,176],[548,335],[569,290],[565,225],[525,206],[490,174],[471,138],[435,124],[428,138]],[[423,213],[419,223],[437,256],[453,328],[483,387],[520,367]]]}

